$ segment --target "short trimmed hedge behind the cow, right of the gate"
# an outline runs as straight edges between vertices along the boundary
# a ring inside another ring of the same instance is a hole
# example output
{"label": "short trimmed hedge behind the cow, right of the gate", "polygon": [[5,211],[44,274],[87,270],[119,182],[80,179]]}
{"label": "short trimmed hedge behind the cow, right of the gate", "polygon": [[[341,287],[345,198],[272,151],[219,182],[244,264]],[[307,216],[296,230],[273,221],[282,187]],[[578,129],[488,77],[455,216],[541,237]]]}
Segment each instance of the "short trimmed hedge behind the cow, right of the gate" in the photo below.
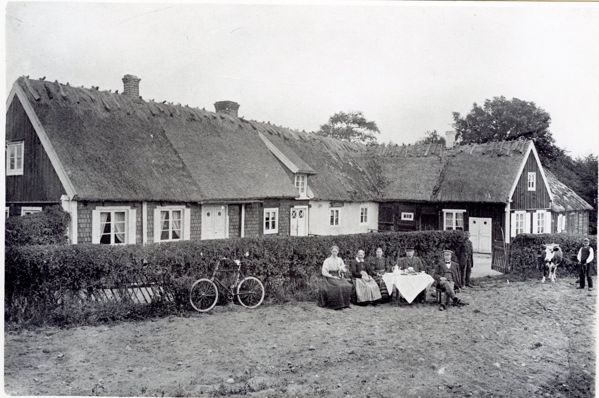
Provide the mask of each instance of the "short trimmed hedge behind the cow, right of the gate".
{"label": "short trimmed hedge behind the cow, right of the gate", "polygon": [[[541,245],[559,243],[564,261],[559,264],[556,275],[578,275],[576,255],[582,247],[583,236],[570,234],[519,234],[510,245],[510,264],[512,272],[534,278],[543,276],[544,261],[539,257]],[[589,236],[590,246],[595,252],[591,261],[593,273],[597,272],[597,236]],[[566,261],[567,260],[567,261]],[[573,261],[574,263],[572,263]]]}

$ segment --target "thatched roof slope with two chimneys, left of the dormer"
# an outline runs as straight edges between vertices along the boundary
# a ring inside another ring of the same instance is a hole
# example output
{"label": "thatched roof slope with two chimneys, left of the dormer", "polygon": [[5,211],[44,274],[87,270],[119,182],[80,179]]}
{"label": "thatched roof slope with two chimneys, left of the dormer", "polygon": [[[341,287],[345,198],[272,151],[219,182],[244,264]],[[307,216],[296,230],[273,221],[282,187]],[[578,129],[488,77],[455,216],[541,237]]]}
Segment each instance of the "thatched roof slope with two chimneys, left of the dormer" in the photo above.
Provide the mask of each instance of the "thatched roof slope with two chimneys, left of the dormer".
{"label": "thatched roof slope with two chimneys, left of the dormer", "polygon": [[16,84],[81,200],[298,195],[246,120],[23,77]]}

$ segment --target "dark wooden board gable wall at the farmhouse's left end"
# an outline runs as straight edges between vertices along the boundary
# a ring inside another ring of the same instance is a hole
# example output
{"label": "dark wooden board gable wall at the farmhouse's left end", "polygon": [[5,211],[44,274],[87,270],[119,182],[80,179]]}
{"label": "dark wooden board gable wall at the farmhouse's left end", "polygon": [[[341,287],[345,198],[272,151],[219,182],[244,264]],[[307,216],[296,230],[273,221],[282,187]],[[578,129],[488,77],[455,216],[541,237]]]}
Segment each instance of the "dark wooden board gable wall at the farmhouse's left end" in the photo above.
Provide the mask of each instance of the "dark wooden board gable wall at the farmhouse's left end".
{"label": "dark wooden board gable wall at the farmhouse's left end", "polygon": [[[66,194],[25,108],[16,96],[6,114],[7,141],[24,141],[23,175],[6,176],[7,202],[60,201]],[[6,165],[4,166],[6,168]],[[5,173],[6,174],[6,173]]]}

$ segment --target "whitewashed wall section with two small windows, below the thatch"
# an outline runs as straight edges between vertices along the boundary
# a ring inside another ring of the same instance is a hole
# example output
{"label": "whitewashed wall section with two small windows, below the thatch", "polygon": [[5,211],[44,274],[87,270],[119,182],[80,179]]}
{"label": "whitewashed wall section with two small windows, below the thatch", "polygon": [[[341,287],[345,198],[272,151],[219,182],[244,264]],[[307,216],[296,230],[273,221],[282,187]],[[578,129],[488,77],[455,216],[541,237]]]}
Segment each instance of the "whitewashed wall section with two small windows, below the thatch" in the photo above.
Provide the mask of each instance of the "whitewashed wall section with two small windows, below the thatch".
{"label": "whitewashed wall section with two small windows, below the thatch", "polygon": [[[331,202],[310,201],[308,231],[315,235],[343,235],[367,233],[379,229],[379,204],[376,202],[344,202],[340,207],[339,225],[331,225]],[[360,224],[360,208],[368,206],[368,223]]]}

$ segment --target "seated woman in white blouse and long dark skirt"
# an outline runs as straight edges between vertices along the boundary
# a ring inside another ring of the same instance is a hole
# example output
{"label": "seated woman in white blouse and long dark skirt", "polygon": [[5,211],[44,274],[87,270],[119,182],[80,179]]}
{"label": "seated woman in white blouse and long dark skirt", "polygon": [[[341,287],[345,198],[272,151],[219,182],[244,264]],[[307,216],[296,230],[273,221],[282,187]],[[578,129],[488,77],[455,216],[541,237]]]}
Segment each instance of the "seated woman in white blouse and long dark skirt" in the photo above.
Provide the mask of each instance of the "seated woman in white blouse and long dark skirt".
{"label": "seated woman in white blouse and long dark skirt", "polygon": [[345,272],[347,267],[340,257],[337,257],[339,248],[332,246],[331,257],[322,264],[322,282],[318,293],[318,305],[330,309],[349,308],[349,299],[352,295],[352,284],[347,279],[341,278],[340,272]]}

